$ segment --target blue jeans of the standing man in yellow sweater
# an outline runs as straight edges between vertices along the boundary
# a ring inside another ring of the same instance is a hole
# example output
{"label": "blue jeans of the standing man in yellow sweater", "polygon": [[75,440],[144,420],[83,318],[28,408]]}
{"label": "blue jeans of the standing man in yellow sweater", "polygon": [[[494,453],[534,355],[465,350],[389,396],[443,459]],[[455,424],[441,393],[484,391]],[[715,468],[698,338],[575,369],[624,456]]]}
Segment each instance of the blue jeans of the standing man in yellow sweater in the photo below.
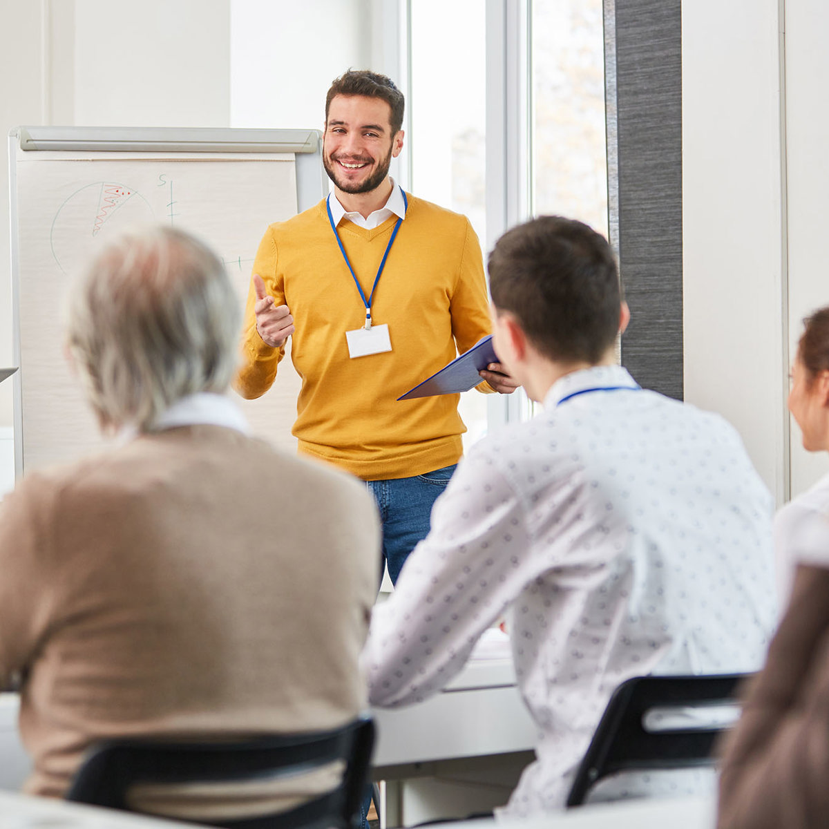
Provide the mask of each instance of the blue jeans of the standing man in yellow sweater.
{"label": "blue jeans of the standing man in yellow sweater", "polygon": [[[432,505],[452,478],[457,463],[413,478],[366,481],[380,509],[383,523],[383,560],[389,565],[392,584],[410,552],[429,535]],[[381,561],[381,568],[383,562]],[[382,575],[382,569],[381,569]]]}

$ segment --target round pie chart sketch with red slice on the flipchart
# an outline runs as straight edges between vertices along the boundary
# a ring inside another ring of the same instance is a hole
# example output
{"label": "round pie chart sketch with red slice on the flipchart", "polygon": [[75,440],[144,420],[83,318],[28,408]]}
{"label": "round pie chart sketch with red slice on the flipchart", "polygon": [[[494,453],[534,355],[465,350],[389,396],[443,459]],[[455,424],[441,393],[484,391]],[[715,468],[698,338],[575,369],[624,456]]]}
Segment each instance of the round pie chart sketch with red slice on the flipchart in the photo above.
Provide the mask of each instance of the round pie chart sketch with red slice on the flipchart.
{"label": "round pie chart sketch with red slice on the flipchart", "polygon": [[154,220],[153,208],[133,187],[94,182],[72,193],[51,225],[51,251],[64,274],[75,274],[115,235]]}

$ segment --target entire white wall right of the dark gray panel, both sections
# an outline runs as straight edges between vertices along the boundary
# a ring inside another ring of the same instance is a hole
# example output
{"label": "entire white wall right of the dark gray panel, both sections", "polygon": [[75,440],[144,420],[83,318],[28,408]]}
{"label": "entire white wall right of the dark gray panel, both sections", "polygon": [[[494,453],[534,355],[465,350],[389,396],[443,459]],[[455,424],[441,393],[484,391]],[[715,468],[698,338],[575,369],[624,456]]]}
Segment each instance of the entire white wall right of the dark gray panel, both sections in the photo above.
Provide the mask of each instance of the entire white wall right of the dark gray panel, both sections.
{"label": "entire white wall right of the dark gray panel, both sections", "polygon": [[829,304],[827,27],[816,0],[682,6],[686,400],[737,426],[778,503],[829,472],[786,410]]}

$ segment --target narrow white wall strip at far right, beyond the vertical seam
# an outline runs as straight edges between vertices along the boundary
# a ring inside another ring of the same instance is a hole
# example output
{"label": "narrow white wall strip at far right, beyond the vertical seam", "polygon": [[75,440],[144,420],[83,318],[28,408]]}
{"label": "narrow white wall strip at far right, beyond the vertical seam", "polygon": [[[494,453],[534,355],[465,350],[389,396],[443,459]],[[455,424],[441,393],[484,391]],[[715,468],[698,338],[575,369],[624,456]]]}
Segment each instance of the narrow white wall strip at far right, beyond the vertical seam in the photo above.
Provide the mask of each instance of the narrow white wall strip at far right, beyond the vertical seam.
{"label": "narrow white wall strip at far right, beyond the vertical seam", "polygon": [[[829,113],[825,107],[829,5],[786,2],[788,340],[794,359],[802,318],[829,304]],[[826,453],[807,453],[792,424],[792,494],[829,472]]]}

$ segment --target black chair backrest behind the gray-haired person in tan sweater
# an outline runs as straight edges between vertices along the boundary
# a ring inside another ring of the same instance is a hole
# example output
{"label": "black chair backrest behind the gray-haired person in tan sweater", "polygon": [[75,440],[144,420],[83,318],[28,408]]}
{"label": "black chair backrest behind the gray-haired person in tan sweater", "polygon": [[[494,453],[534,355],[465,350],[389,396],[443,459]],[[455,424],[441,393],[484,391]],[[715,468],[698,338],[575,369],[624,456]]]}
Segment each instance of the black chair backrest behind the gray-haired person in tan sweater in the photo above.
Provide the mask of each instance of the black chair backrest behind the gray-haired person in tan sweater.
{"label": "black chair backrest behind the gray-haired person in tan sweater", "polygon": [[342,779],[329,793],[278,814],[210,822],[228,829],[351,829],[359,825],[373,745],[374,723],[368,717],[331,731],[244,742],[112,740],[90,749],[66,799],[128,812],[128,789],[136,784],[282,778],[342,760]]}

